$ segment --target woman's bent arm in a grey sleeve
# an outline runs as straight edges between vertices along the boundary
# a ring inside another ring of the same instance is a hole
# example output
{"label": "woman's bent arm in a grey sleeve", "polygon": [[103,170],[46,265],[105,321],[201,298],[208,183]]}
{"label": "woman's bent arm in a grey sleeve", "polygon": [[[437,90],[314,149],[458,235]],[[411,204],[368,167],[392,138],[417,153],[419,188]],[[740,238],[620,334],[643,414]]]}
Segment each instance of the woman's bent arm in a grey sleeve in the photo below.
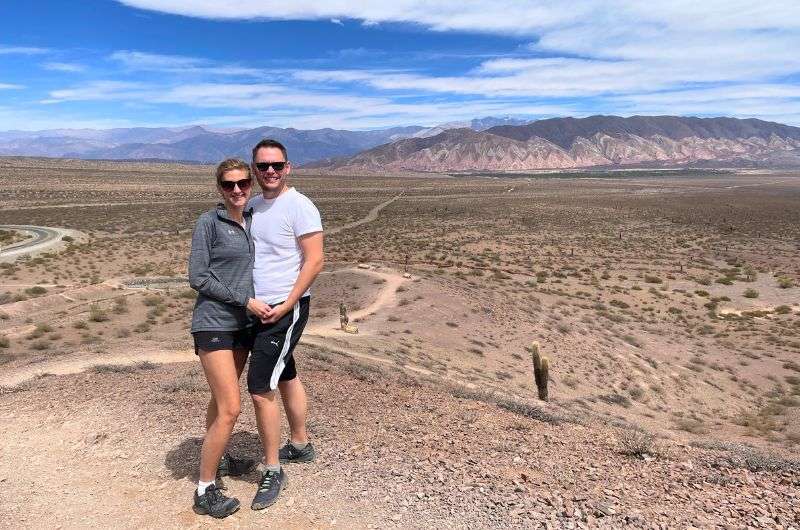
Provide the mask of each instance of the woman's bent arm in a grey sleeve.
{"label": "woman's bent arm in a grey sleeve", "polygon": [[235,306],[245,307],[248,293],[232,291],[219,281],[211,271],[211,245],[213,220],[201,216],[192,234],[192,251],[189,254],[189,285],[200,294]]}

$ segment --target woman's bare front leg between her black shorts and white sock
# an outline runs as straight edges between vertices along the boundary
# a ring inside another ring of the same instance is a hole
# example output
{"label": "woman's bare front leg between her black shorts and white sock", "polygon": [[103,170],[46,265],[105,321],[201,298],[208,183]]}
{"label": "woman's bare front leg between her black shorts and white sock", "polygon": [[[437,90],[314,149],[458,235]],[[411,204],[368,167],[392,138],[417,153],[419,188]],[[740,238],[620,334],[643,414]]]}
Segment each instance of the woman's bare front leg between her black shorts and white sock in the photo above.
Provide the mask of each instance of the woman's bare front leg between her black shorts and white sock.
{"label": "woman's bare front leg between her black shorts and white sock", "polygon": [[[200,350],[200,363],[211,387],[213,420],[200,451],[200,481],[213,482],[217,466],[241,411],[236,356],[231,350]],[[209,405],[209,410],[211,410]]]}

